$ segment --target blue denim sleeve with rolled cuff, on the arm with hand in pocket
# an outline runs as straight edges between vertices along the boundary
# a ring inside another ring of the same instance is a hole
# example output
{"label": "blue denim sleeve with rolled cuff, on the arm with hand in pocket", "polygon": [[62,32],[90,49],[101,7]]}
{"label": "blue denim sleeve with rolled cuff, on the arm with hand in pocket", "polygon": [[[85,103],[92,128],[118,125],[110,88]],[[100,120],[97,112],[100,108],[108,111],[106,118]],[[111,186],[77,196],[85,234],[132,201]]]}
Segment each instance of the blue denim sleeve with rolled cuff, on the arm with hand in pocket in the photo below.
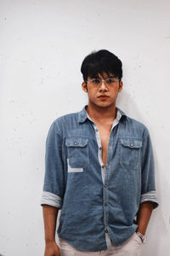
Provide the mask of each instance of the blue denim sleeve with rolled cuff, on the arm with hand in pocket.
{"label": "blue denim sleeve with rolled cuff, on the arm with hand in pocket", "polygon": [[150,140],[150,133],[146,128],[146,136],[142,146],[142,180],[140,203],[152,201],[154,209],[159,206],[155,186],[155,163]]}

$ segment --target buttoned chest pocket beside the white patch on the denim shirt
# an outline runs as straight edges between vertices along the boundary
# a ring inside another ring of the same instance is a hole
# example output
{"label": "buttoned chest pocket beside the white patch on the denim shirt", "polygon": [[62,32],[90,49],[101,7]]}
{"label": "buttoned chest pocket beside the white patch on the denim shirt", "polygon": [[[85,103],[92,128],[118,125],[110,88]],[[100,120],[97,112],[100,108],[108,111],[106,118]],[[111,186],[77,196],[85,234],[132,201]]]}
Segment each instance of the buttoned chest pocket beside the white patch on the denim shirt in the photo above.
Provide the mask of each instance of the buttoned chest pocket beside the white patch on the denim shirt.
{"label": "buttoned chest pocket beside the white patch on the denim shirt", "polygon": [[83,168],[89,164],[88,138],[68,137],[65,139],[67,157],[71,168]]}

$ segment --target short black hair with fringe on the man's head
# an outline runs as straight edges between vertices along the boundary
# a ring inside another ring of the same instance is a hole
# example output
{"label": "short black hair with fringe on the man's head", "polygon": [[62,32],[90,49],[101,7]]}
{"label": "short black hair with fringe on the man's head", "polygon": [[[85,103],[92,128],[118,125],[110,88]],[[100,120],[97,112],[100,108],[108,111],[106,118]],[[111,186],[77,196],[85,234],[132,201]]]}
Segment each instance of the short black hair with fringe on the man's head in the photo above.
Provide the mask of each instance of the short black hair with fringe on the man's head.
{"label": "short black hair with fringe on the man's head", "polygon": [[122,61],[111,51],[100,49],[87,55],[82,61],[81,67],[84,81],[89,78],[97,78],[99,74],[114,74],[118,79],[122,79]]}

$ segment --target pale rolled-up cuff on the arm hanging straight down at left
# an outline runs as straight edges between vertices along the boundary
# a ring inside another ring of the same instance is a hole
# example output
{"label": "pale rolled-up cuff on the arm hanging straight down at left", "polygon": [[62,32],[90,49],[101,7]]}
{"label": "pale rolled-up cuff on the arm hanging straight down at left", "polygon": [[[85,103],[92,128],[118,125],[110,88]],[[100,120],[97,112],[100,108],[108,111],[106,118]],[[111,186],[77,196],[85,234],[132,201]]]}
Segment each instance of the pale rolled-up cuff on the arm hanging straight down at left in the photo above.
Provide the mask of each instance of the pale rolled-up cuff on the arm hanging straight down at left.
{"label": "pale rolled-up cuff on the arm hanging straight down at left", "polygon": [[52,207],[61,208],[63,200],[59,195],[55,195],[48,191],[42,191],[41,206],[48,205]]}

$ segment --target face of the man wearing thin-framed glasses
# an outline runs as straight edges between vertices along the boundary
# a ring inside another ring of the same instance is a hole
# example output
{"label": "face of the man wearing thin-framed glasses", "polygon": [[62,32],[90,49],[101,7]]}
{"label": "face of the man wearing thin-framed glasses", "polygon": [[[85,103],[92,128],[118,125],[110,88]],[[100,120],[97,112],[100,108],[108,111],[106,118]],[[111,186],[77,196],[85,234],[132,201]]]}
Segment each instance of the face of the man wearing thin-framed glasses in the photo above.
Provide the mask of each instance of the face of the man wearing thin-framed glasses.
{"label": "face of the man wearing thin-framed glasses", "polygon": [[[108,76],[106,73],[98,75],[99,79],[108,79],[110,77],[114,77],[114,74]],[[88,77],[88,81],[90,78]],[[87,86],[86,86],[87,85]],[[86,84],[82,83],[82,90],[88,92],[88,102],[101,107],[111,107],[111,105],[116,105],[116,97],[118,93],[122,90],[122,81],[116,81],[116,83],[112,85],[108,85],[102,82],[102,84],[95,86],[93,83]],[[101,97],[105,95],[106,97]]]}

